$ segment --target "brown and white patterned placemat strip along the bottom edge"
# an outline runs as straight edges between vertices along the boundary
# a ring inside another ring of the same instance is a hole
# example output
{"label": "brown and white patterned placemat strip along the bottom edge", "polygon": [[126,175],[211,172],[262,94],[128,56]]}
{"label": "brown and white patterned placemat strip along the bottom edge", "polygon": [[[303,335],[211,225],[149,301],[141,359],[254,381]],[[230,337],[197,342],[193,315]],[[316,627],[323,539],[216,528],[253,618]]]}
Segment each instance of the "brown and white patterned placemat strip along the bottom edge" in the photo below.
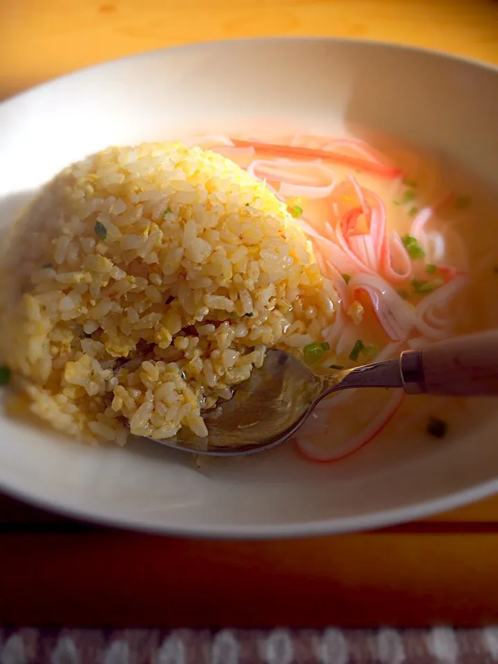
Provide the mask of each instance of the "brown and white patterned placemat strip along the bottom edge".
{"label": "brown and white patterned placemat strip along the bottom edge", "polygon": [[498,627],[0,631],[1,664],[492,664]]}

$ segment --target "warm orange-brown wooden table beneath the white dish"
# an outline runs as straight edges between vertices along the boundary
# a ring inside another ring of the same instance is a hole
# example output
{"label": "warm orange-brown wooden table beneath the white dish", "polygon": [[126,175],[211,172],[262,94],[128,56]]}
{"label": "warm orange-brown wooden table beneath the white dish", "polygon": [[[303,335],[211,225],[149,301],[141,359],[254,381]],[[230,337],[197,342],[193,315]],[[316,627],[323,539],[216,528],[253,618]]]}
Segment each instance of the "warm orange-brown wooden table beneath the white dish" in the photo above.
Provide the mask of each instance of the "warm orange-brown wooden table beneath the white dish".
{"label": "warm orange-brown wooden table beneath the white dish", "polygon": [[[340,35],[498,64],[494,0],[0,0],[0,98],[207,39]],[[186,542],[0,499],[0,623],[321,627],[498,620],[498,497],[391,531]]]}

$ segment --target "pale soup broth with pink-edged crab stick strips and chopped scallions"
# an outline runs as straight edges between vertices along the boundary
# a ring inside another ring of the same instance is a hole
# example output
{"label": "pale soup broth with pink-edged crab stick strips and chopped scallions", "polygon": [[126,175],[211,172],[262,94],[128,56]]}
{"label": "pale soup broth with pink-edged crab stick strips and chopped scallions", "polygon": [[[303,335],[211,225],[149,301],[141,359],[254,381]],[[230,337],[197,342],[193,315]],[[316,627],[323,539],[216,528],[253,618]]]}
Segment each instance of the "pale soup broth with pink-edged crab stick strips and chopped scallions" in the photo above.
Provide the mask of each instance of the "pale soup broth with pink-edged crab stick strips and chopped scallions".
{"label": "pale soup broth with pink-edged crab stick strips and chopped scallions", "polygon": [[[497,201],[443,158],[389,137],[277,133],[203,135],[266,182],[308,234],[338,293],[322,346],[296,353],[324,373],[397,356],[403,349],[498,325]],[[375,145],[375,147],[373,147]],[[289,303],[302,314],[299,301]],[[313,320],[313,311],[304,312]],[[316,409],[296,436],[306,457],[335,461],[386,428],[427,439],[486,420],[489,400],[349,390]]]}

